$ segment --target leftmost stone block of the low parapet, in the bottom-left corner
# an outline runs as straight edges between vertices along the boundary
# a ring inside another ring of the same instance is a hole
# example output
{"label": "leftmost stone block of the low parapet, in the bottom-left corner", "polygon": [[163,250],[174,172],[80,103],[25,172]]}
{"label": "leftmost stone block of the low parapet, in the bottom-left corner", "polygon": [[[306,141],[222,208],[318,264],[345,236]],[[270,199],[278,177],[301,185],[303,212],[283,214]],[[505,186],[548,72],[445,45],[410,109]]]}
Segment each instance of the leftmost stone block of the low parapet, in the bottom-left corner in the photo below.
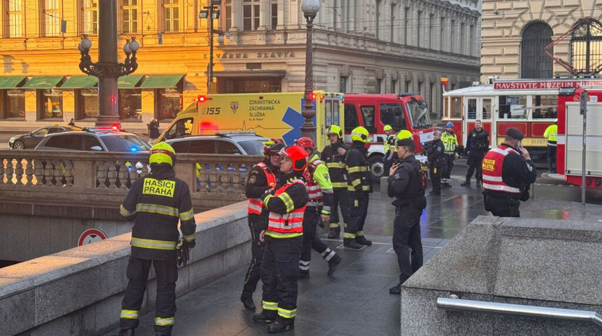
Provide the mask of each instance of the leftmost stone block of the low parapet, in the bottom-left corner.
{"label": "leftmost stone block of the low parapet, in the bottom-left corner", "polygon": [[0,278],[0,335],[33,328],[34,317],[33,279]]}

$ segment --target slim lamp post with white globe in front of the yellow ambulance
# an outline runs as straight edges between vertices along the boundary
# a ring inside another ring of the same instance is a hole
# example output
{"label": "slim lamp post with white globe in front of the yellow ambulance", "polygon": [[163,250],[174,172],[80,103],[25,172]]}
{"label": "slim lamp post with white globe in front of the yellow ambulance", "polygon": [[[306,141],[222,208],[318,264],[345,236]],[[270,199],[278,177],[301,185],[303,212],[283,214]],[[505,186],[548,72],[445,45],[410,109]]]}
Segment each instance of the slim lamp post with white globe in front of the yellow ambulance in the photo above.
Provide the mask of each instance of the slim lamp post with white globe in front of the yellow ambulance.
{"label": "slim lamp post with white globe in front of the yellow ambulance", "polygon": [[301,115],[305,118],[305,122],[301,126],[302,136],[307,136],[316,140],[316,125],[313,124],[313,117],[316,111],[313,111],[313,102],[311,95],[313,93],[313,53],[312,53],[312,28],[313,19],[316,18],[318,10],[320,10],[320,0],[302,0],[301,10],[307,21],[307,39],[305,44],[305,104]]}

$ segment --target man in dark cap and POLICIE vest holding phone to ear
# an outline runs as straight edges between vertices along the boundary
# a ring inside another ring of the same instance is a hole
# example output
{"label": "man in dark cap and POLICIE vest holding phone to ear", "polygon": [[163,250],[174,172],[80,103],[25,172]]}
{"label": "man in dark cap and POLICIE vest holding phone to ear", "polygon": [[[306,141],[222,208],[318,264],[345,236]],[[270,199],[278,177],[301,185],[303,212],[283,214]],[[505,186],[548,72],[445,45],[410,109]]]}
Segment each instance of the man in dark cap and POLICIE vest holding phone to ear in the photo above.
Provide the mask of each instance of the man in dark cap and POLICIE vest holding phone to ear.
{"label": "man in dark cap and POLICIE vest holding phone to ear", "polygon": [[483,200],[493,216],[520,217],[520,200],[529,198],[528,185],[537,178],[529,152],[520,146],[523,137],[518,129],[508,129],[504,142],[483,158]]}

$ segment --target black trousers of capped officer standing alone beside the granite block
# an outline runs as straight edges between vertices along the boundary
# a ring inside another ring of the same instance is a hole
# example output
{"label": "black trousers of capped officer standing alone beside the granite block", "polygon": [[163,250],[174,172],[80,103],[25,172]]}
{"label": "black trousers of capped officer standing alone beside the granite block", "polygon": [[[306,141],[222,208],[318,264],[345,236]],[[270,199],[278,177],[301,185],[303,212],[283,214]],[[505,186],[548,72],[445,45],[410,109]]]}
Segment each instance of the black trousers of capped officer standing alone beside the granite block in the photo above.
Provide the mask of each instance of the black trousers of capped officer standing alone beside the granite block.
{"label": "black trousers of capped officer standing alone beside the granite block", "polygon": [[[399,283],[405,282],[422,267],[422,240],[420,238],[420,216],[422,209],[414,205],[395,207],[393,222],[393,250],[399,263]],[[410,248],[412,253],[410,254]]]}

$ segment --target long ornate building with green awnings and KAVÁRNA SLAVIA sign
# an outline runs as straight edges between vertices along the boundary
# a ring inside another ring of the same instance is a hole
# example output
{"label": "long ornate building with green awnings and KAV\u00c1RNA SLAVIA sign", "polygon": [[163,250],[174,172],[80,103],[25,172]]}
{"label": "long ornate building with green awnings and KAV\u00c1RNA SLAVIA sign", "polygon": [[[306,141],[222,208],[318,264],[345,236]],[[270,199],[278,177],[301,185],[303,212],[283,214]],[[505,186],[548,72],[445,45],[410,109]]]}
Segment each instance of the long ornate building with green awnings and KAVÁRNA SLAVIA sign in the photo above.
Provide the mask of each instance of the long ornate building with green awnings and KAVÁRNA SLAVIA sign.
{"label": "long ornate building with green awnings and KAV\u00c1RNA SLAVIA sign", "polygon": [[[120,43],[136,36],[141,46],[138,71],[120,79],[120,115],[125,129],[144,132],[207,92],[206,1],[116,1]],[[97,5],[0,0],[0,131],[93,124],[96,81],[82,77],[77,44],[89,35],[96,59]],[[448,88],[479,78],[479,0],[325,0],[314,23],[316,89],[420,91],[440,115],[439,77]],[[214,92],[303,91],[300,0],[223,0],[214,26]]]}

